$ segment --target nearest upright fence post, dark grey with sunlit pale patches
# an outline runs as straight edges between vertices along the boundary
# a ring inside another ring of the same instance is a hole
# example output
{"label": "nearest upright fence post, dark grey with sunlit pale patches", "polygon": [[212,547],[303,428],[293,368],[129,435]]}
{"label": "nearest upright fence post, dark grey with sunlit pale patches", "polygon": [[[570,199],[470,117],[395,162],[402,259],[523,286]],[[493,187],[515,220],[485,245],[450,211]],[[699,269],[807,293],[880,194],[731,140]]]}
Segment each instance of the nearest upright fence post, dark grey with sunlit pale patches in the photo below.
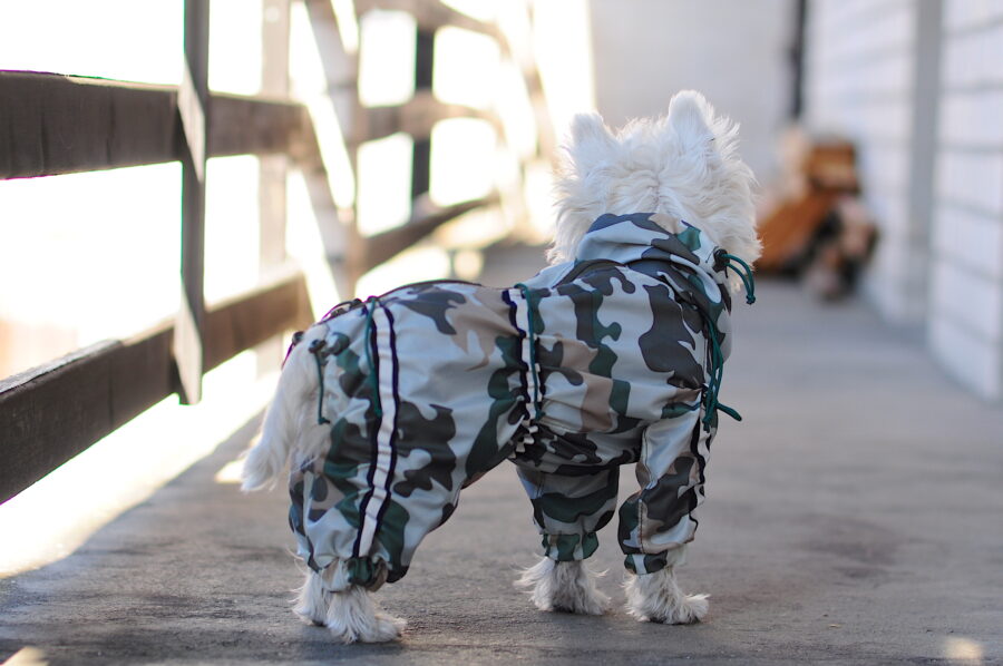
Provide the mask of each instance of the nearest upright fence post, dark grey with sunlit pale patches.
{"label": "nearest upright fence post, dark grey with sunlit pale patches", "polygon": [[183,404],[202,398],[205,339],[205,161],[208,126],[210,0],[185,0],[185,68],[177,95],[183,131],[182,303],[174,327],[174,358]]}

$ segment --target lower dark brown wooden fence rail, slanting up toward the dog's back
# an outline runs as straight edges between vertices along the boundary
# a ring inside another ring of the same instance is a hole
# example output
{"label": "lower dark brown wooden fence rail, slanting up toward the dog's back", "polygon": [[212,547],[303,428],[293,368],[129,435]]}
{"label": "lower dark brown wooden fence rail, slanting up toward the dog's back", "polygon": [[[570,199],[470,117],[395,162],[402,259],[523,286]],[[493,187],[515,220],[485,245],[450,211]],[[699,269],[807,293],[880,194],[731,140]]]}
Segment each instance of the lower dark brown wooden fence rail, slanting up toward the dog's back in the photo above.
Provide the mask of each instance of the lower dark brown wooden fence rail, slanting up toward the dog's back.
{"label": "lower dark brown wooden fence rail, slanting up toward the dog's back", "polygon": [[[206,312],[205,369],[311,319],[299,272],[221,303]],[[178,392],[173,340],[165,323],[0,381],[0,500]]]}

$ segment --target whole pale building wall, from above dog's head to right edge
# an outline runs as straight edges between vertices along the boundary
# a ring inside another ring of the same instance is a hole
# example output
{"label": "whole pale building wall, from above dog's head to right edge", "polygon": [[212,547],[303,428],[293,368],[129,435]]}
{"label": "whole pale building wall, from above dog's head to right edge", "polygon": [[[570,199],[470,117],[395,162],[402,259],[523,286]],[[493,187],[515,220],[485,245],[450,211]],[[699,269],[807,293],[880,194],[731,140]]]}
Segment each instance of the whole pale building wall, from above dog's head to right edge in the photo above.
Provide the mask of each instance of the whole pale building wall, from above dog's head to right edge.
{"label": "whole pale building wall, from above dog's head to right edge", "polygon": [[[611,125],[703,90],[763,183],[789,104],[791,0],[590,0]],[[1003,0],[808,0],[804,123],[858,147],[880,227],[865,292],[1003,398]],[[653,29],[658,26],[659,29]]]}

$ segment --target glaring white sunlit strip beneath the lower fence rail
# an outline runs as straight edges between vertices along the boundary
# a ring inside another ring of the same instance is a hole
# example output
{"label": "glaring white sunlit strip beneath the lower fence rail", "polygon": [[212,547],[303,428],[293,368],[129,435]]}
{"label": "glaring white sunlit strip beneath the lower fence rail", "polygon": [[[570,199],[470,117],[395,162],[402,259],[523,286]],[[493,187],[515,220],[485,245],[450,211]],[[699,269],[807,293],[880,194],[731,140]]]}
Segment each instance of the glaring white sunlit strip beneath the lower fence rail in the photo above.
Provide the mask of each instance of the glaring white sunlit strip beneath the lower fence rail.
{"label": "glaring white sunlit strip beneath the lower fence rail", "polygon": [[205,375],[205,400],[171,396],[0,505],[0,578],[70,555],[261,411],[277,372],[256,379],[245,352]]}

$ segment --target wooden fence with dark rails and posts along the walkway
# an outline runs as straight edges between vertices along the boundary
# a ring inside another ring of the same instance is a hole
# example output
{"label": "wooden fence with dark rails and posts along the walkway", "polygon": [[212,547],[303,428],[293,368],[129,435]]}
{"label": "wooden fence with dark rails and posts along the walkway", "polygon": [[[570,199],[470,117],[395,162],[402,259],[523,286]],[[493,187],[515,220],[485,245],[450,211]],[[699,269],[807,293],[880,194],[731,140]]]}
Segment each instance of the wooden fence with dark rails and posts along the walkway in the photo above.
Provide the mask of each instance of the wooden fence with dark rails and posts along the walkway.
{"label": "wooden fence with dark rails and posts along the walkway", "polygon": [[[328,186],[323,146],[306,107],[288,99],[290,2],[263,2],[262,96],[212,94],[208,71],[208,0],[185,1],[185,74],[178,87],[125,84],[55,74],[0,71],[0,179],[52,176],[179,160],[183,165],[183,303],[173,322],[129,340],[107,341],[0,380],[0,502],[13,497],[158,401],[178,393],[196,402],[203,374],[235,354],[311,321],[305,280],[285,266],[285,173],[299,169],[319,224],[348,233],[327,247],[339,292],[356,278],[477,207],[495,193],[446,208],[416,205],[403,225],[363,238],[354,210],[339,210]],[[431,95],[432,43],[442,26],[490,35],[489,23],[436,0],[356,0],[351,22],[371,9],[395,9],[416,19],[416,94],[396,107],[363,108],[358,98],[358,58],[344,39],[334,0],[302,0],[331,87],[338,123],[350,154],[364,141],[397,131],[415,140],[412,196],[429,185],[429,137],[435,123],[489,112],[438,102]],[[537,117],[548,127],[538,76],[523,68]],[[338,79],[341,80],[338,80]],[[549,135],[538,150],[549,151]],[[208,157],[261,157],[261,262],[270,277],[256,288],[207,306],[203,297],[205,164]],[[352,164],[354,168],[354,164]],[[335,177],[338,174],[335,174]],[[321,214],[323,213],[323,214]],[[330,231],[330,229],[328,229]],[[322,234],[332,237],[331,234]]]}

